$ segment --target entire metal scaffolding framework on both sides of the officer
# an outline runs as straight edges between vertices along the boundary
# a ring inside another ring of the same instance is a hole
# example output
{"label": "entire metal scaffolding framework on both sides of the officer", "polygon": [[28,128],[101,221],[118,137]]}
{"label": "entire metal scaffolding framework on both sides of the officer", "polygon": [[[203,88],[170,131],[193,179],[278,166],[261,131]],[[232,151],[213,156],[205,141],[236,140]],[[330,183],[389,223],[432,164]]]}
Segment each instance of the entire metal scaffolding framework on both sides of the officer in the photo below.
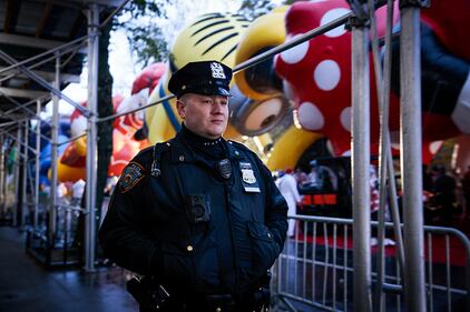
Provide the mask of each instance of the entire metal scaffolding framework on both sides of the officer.
{"label": "entire metal scaffolding framework on both sides of the officer", "polygon": [[[123,1],[120,9],[127,1]],[[401,174],[403,177],[403,204],[404,204],[404,224],[403,224],[403,244],[402,244],[402,230],[400,220],[398,219],[396,203],[391,202],[392,215],[395,222],[395,235],[398,236],[399,244],[399,256],[401,272],[404,276],[404,285],[388,285],[383,281],[383,272],[378,272],[378,282],[374,289],[374,295],[372,296],[372,280],[371,280],[371,249],[370,249],[370,236],[371,236],[371,220],[370,220],[370,31],[372,32],[372,39],[376,40],[374,33],[374,11],[376,3],[374,1],[349,1],[353,9],[351,13],[345,14],[330,23],[323,24],[316,29],[313,29],[302,36],[296,37],[294,40],[273,48],[264,53],[261,53],[241,64],[235,67],[234,71],[241,71],[246,68],[253,67],[263,62],[264,60],[288,50],[302,42],[311,40],[320,34],[325,33],[345,23],[352,31],[352,182],[353,182],[353,245],[354,245],[354,288],[353,288],[353,301],[354,311],[382,311],[382,292],[400,291],[404,293],[407,311],[425,311],[425,296],[424,296],[424,269],[423,269],[423,220],[422,220],[422,172],[421,172],[421,128],[417,124],[421,124],[421,84],[420,84],[420,1],[400,1],[401,8],[401,33],[400,33],[400,58],[401,58]],[[383,1],[380,1],[383,2]],[[383,3],[381,3],[383,4]],[[396,198],[396,190],[394,184],[390,181],[393,178],[393,168],[390,150],[390,134],[388,131],[388,110],[389,103],[388,98],[390,93],[390,49],[391,49],[391,28],[392,28],[392,16],[393,16],[393,1],[389,0],[389,14],[388,14],[388,34],[385,37],[385,61],[383,68],[380,66],[378,58],[376,42],[372,42],[372,50],[374,53],[374,69],[375,78],[378,79],[378,94],[379,105],[381,113],[381,155],[380,155],[380,185],[381,185],[381,214],[379,220],[379,261],[383,260],[383,229],[384,229],[384,199],[386,192],[389,198]],[[392,13],[390,13],[392,12]],[[65,142],[58,142],[58,101],[59,98],[65,99],[67,102],[80,110],[87,118],[87,184],[86,184],[86,231],[85,231],[85,270],[91,272],[95,270],[95,251],[96,251],[96,168],[97,168],[97,123],[104,122],[123,114],[133,113],[138,110],[146,109],[148,107],[158,104],[166,101],[173,95],[165,97],[154,103],[148,103],[136,110],[128,112],[98,118],[97,114],[97,72],[98,72],[98,37],[99,29],[104,23],[109,22],[109,18],[104,22],[99,23],[99,7],[98,3],[91,3],[87,10],[88,19],[88,34],[76,39],[67,44],[59,48],[52,49],[45,56],[53,53],[56,60],[56,76],[53,87],[43,85],[45,80],[38,77],[32,71],[35,68],[26,67],[28,62],[17,62],[13,58],[0,51],[0,58],[10,63],[8,68],[0,69],[2,71],[18,70],[23,74],[28,76],[32,80],[37,81],[43,88],[50,91],[53,101],[53,119],[51,123],[51,163],[52,163],[52,177],[50,188],[50,202],[49,202],[49,229],[48,236],[51,241],[55,240],[55,233],[57,224],[57,149]],[[372,29],[370,29],[372,27]],[[87,40],[88,44],[88,108],[85,109],[81,105],[75,103],[60,92],[60,58],[66,51],[70,49],[78,49],[81,47],[84,40]],[[383,72],[383,73],[382,73]],[[39,223],[39,144],[41,140],[41,120],[39,112],[41,110],[41,102],[46,98],[42,95],[40,99],[31,101],[37,103],[37,111],[32,111],[28,108],[29,104],[19,104],[18,109],[29,112],[29,118],[36,118],[36,150],[35,150],[35,188],[33,188],[33,227],[38,227]],[[12,112],[12,111],[11,111]],[[42,121],[43,122],[43,121]],[[21,137],[21,129],[25,124],[25,135]],[[6,130],[7,129],[7,130]],[[25,138],[27,142],[29,129],[29,121],[21,123],[21,121],[13,120],[0,124],[0,209],[4,212],[6,201],[6,169],[4,169],[4,143],[7,137],[13,137],[10,134],[12,131],[17,131],[17,147],[18,147],[18,159],[16,161],[16,168],[19,170],[19,158],[20,158],[20,141]],[[81,135],[80,135],[81,137]],[[72,141],[77,138],[72,138]],[[26,143],[27,144],[27,143]],[[25,148],[23,154],[23,182],[22,191],[22,212],[27,211],[27,154],[28,149]],[[16,173],[19,179],[19,171]],[[389,181],[389,183],[386,182]],[[16,184],[19,188],[19,180]],[[388,187],[388,189],[385,188]],[[18,190],[16,188],[16,190]],[[13,218],[16,219],[16,218]],[[23,224],[23,222],[21,223]],[[379,262],[379,268],[381,268]],[[373,300],[372,300],[373,299]]]}

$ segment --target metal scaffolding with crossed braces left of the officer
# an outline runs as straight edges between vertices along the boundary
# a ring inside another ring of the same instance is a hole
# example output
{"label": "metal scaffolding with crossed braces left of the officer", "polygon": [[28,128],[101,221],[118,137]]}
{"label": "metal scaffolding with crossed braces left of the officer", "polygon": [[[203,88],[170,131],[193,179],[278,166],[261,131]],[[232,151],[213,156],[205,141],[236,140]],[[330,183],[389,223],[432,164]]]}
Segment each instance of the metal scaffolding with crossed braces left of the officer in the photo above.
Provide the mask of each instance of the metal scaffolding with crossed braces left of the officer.
{"label": "metal scaffolding with crossed braces left of the officer", "polygon": [[[17,193],[16,203],[13,205],[12,211],[12,219],[13,225],[21,225],[25,227],[27,221],[27,214],[31,214],[30,224],[33,229],[37,229],[40,224],[39,220],[48,220],[46,225],[47,228],[47,240],[48,245],[52,246],[56,243],[56,234],[57,234],[57,219],[58,219],[58,210],[63,209],[63,207],[58,203],[57,193],[58,193],[58,172],[57,172],[57,164],[58,164],[58,147],[66,143],[59,142],[59,99],[67,101],[69,104],[75,107],[79,110],[87,119],[88,119],[88,127],[87,133],[84,135],[88,137],[87,140],[87,199],[86,199],[86,210],[85,212],[79,210],[86,215],[86,241],[85,241],[85,270],[92,271],[95,265],[95,248],[96,248],[96,165],[97,165],[97,153],[96,153],[96,138],[97,138],[97,77],[98,77],[98,39],[99,32],[102,27],[109,23],[112,17],[123,9],[123,7],[129,0],[94,0],[88,1],[89,3],[88,9],[86,10],[87,21],[88,21],[88,34],[71,40],[70,42],[63,44],[57,44],[56,42],[51,42],[48,47],[53,47],[46,52],[35,54],[28,59],[22,61],[17,61],[13,57],[8,54],[6,51],[0,50],[0,58],[7,62],[9,66],[0,68],[0,74],[2,76],[1,81],[7,81],[9,79],[16,78],[20,74],[31,79],[33,82],[38,83],[41,88],[48,90],[50,94],[46,94],[42,92],[31,92],[31,91],[18,91],[14,94],[38,94],[36,99],[30,100],[26,103],[20,103],[14,100],[12,97],[8,95],[4,90],[0,90],[0,93],[12,103],[14,107],[12,109],[8,109],[6,111],[1,111],[1,118],[8,121],[0,123],[0,143],[1,143],[1,153],[0,153],[0,208],[1,208],[1,217],[3,218],[6,214],[6,200],[7,200],[7,183],[6,183],[6,144],[9,143],[16,147],[17,151],[17,159],[14,161],[14,192]],[[80,8],[82,3],[77,1],[77,4],[74,8]],[[102,6],[111,6],[115,11],[107,16],[105,21],[100,23],[99,16]],[[3,37],[7,34],[2,34]],[[19,37],[14,37],[19,38]],[[18,39],[20,40],[20,39]],[[22,39],[21,39],[22,40]],[[22,44],[28,44],[26,40],[21,41]],[[38,46],[41,46],[36,41]],[[66,81],[75,81],[78,82],[70,74],[62,74],[62,68],[70,59],[76,54],[78,50],[82,49],[84,43],[88,46],[87,50],[87,60],[88,60],[88,108],[85,108],[70,98],[65,95],[61,91],[61,83]],[[71,53],[63,62],[61,62],[61,58],[67,54]],[[39,66],[42,66],[51,60],[56,61],[55,64],[55,73],[53,76],[49,74],[45,71],[35,71],[35,69]],[[33,64],[30,64],[35,62]],[[53,83],[50,84],[48,81],[45,80],[42,77],[48,77],[49,79],[53,79]],[[47,100],[52,99],[52,121],[50,123],[51,127],[51,137],[45,137],[41,133],[41,124],[48,123],[47,121],[41,120],[40,112],[42,109],[43,103]],[[37,105],[36,111],[33,111],[30,107],[32,104]],[[17,118],[14,113],[19,113],[18,115],[25,114],[25,118]],[[30,129],[30,120],[36,120],[36,130]],[[16,135],[12,135],[11,132],[16,131]],[[29,131],[36,132],[36,149],[31,149],[28,145],[28,137]],[[81,138],[80,135],[78,138]],[[8,139],[8,142],[6,141]],[[47,204],[47,211],[43,211],[43,215],[40,215],[40,197],[39,197],[39,162],[40,162],[40,141],[46,139],[51,142],[51,182],[50,182],[50,191],[49,191],[49,201]],[[76,140],[78,138],[74,138]],[[31,161],[32,165],[28,163],[28,153],[35,154],[35,159]],[[33,169],[32,169],[33,168]],[[32,174],[32,170],[35,174]],[[20,180],[21,179],[21,180]],[[30,192],[31,197],[28,197],[28,179],[30,181]],[[19,193],[21,191],[21,193]],[[31,207],[31,209],[30,209]],[[30,211],[31,210],[31,211]],[[30,212],[30,213],[29,213]],[[20,224],[17,224],[17,220]],[[43,222],[42,222],[43,223]]]}

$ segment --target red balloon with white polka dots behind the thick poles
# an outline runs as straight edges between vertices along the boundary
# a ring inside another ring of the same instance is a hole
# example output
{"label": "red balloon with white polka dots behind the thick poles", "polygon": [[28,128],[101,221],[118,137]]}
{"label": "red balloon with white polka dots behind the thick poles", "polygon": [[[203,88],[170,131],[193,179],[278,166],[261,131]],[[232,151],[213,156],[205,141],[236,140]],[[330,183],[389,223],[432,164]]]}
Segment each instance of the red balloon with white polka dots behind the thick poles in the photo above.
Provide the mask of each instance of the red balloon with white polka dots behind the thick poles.
{"label": "red balloon with white polka dots behind the thick poles", "polygon": [[[424,162],[440,145],[433,142],[470,133],[470,44],[463,38],[467,32],[462,31],[470,29],[470,1],[434,2],[430,9],[422,10],[423,24],[431,28],[431,34],[437,38],[433,39],[435,42],[431,41],[431,47],[425,46],[430,41],[428,38],[422,40],[422,59],[427,60],[422,63]],[[385,10],[381,8],[375,12],[379,37],[384,36]],[[286,40],[293,40],[350,11],[350,6],[343,0],[296,2],[286,13]],[[395,8],[394,12],[394,24],[398,24],[399,9]],[[427,36],[423,33],[423,37]],[[274,64],[285,80],[284,84],[290,85],[298,123],[305,130],[324,133],[336,154],[346,153],[351,147],[351,32],[337,27],[282,52],[276,56]],[[440,63],[442,60],[445,60],[444,64]],[[372,54],[370,64],[371,150],[376,152],[379,113]],[[434,92],[441,92],[437,99],[431,97]],[[450,97],[444,97],[448,94]],[[389,124],[392,132],[400,129],[399,97],[392,92],[390,98]]]}

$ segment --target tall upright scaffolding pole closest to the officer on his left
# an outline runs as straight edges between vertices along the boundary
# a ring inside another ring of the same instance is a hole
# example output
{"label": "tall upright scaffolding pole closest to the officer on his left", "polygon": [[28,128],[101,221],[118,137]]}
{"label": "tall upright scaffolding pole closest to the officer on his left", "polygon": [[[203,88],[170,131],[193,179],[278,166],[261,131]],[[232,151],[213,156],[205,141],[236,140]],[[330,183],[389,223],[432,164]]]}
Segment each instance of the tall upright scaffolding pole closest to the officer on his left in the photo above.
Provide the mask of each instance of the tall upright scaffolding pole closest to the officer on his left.
{"label": "tall upright scaffolding pole closest to the officer on his left", "polygon": [[88,109],[87,123],[87,185],[86,185],[86,230],[85,270],[95,271],[96,245],[96,169],[97,169],[97,101],[98,101],[98,4],[91,3],[88,14]]}

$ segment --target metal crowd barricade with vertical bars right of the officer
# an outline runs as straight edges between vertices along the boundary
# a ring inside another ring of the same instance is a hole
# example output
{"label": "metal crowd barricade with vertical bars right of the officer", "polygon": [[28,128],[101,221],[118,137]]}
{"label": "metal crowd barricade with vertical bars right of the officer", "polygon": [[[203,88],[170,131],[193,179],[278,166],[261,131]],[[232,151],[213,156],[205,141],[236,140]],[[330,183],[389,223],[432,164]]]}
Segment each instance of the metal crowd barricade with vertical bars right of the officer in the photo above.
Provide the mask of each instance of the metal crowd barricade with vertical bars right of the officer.
{"label": "metal crowd barricade with vertical bars right of the officer", "polygon": [[[296,234],[287,238],[273,266],[274,310],[353,311],[353,221],[300,215],[292,219],[297,220]],[[392,228],[391,223],[385,225]],[[384,311],[402,311],[404,294],[395,245],[393,240],[388,242]],[[470,311],[469,239],[452,228],[424,227],[424,246],[428,311]],[[371,249],[374,284],[376,248]]]}

